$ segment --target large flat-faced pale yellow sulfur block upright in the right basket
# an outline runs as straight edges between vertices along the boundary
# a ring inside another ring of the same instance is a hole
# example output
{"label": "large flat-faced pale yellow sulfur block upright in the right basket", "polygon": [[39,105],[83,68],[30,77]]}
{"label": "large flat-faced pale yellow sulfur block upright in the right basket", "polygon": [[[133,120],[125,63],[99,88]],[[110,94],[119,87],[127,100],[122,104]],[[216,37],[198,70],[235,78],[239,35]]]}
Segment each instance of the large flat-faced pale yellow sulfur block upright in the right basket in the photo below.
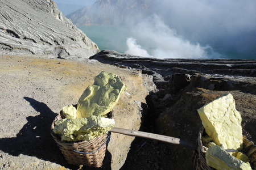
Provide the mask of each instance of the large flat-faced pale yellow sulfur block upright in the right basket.
{"label": "large flat-faced pale yellow sulfur block upright in the right basket", "polygon": [[231,94],[222,95],[197,111],[213,142],[218,146],[223,145],[225,149],[242,148],[242,118]]}

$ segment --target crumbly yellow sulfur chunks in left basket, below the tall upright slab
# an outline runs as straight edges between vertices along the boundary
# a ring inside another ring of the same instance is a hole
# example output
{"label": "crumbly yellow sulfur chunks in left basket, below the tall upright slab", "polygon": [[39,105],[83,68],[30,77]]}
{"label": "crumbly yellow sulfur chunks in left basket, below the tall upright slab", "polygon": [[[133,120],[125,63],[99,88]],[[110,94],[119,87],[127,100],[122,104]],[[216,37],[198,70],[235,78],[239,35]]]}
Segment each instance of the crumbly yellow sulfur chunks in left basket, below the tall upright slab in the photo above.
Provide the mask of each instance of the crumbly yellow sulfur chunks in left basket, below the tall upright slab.
{"label": "crumbly yellow sulfur chunks in left basket, below the tall upright slab", "polygon": [[53,132],[60,134],[61,141],[90,141],[107,134],[114,125],[113,119],[105,117],[65,118],[55,122]]}

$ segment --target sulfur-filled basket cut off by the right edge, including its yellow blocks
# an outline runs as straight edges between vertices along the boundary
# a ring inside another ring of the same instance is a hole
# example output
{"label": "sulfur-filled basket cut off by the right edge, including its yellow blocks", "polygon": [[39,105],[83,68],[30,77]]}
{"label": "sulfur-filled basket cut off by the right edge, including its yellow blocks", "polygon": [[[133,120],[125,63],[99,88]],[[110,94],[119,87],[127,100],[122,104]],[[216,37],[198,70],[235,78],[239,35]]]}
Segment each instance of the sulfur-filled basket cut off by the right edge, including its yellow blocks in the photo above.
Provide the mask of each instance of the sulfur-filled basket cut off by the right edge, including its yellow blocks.
{"label": "sulfur-filled basket cut off by the right edge, including its yellow blocks", "polygon": [[197,110],[203,127],[193,153],[195,169],[256,168],[256,146],[242,135],[241,115],[225,94]]}

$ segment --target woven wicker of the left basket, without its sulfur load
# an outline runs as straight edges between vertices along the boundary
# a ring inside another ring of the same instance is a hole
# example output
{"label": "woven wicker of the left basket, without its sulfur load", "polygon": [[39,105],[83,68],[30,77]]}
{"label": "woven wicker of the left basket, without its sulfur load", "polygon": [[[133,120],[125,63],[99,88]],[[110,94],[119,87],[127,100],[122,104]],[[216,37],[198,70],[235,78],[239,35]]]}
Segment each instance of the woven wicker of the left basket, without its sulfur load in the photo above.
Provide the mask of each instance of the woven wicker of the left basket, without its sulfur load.
{"label": "woven wicker of the left basket, without its sulfur load", "polygon": [[53,133],[54,122],[57,120],[61,120],[61,114],[59,114],[52,122],[51,135],[67,162],[75,165],[101,167],[110,140],[110,133],[92,139],[90,142],[65,142],[61,141],[57,135]]}

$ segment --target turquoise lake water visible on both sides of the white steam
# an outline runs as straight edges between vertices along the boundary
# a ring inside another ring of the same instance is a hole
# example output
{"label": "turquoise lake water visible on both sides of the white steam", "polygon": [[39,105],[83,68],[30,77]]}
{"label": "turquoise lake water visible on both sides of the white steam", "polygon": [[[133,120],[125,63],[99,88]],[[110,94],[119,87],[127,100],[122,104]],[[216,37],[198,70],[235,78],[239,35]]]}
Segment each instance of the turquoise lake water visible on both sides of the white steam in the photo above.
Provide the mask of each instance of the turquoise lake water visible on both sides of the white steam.
{"label": "turquoise lake water visible on both sides of the white steam", "polygon": [[[128,47],[126,45],[126,40],[128,37],[135,37],[137,39],[137,44],[141,46],[146,46],[148,43],[150,43],[137,38],[132,31],[122,27],[102,25],[77,25],[77,28],[81,29],[86,34],[86,36],[88,36],[93,42],[95,42],[100,50],[109,49],[115,50],[119,53],[125,53],[125,51],[128,50]],[[204,44],[200,45],[204,46]],[[150,49],[150,47],[148,47],[148,49]],[[221,54],[221,57],[216,58],[256,59],[256,50],[253,49],[250,52],[239,52],[236,49],[212,49],[214,52]]]}

